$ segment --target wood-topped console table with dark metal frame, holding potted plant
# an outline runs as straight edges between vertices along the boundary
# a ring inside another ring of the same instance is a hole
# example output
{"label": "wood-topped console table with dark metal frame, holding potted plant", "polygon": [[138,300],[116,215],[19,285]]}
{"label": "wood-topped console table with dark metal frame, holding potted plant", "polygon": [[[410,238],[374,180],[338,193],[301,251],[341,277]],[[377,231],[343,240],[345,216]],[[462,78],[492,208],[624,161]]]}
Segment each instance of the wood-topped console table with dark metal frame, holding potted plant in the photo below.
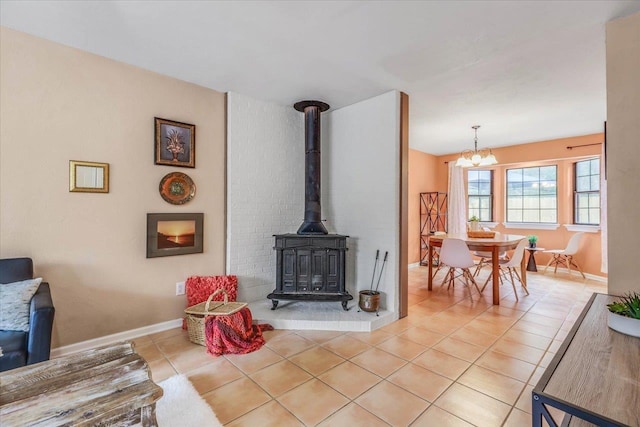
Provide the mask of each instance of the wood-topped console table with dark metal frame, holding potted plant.
{"label": "wood-topped console table with dark metal frame, holding potted plant", "polygon": [[567,414],[563,426],[640,426],[640,338],[607,326],[615,299],[592,295],[533,389],[534,427],[558,426],[547,406]]}

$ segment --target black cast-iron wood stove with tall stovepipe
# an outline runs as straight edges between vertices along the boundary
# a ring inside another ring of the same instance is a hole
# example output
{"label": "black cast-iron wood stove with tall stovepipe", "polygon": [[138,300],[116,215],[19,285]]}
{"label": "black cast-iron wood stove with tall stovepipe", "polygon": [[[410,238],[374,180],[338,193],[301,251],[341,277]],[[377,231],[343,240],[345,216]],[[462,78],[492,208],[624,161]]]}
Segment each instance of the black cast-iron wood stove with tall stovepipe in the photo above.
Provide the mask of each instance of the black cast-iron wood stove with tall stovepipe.
{"label": "black cast-iron wood stove with tall stovepipe", "polygon": [[341,301],[353,299],[345,287],[347,237],[328,234],[322,223],[320,205],[320,113],[329,105],[301,101],[293,108],[305,117],[305,200],[304,222],[297,234],[275,235],[276,289],[267,295],[279,300]]}

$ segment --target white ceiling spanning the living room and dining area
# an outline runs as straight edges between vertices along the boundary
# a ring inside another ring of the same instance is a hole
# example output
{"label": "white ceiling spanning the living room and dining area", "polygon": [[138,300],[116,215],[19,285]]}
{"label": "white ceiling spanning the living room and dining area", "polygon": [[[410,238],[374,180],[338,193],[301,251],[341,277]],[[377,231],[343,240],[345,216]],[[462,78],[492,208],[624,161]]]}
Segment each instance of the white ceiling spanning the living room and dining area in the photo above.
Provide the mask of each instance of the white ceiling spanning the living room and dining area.
{"label": "white ceiling spanning the living room and dining area", "polygon": [[601,132],[605,23],[640,1],[0,1],[1,24],[281,105],[409,94],[432,154]]}

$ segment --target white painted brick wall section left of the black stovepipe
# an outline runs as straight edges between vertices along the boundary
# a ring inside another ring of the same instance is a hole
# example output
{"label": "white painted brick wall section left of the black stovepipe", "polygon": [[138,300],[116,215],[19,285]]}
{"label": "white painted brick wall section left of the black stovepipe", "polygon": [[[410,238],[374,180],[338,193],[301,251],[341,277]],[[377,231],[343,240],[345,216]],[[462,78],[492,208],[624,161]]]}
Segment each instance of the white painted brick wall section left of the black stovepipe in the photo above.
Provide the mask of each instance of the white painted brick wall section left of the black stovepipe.
{"label": "white painted brick wall section left of the black stovepipe", "polygon": [[227,273],[238,300],[275,288],[273,235],[295,232],[304,217],[304,121],[237,93],[227,99]]}

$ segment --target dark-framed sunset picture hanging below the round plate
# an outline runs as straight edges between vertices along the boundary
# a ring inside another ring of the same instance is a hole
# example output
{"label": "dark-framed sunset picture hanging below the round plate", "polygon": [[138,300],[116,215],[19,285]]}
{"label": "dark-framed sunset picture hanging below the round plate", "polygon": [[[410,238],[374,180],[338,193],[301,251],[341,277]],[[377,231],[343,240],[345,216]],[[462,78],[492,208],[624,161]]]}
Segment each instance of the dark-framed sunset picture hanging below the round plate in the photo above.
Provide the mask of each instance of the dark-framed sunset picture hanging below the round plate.
{"label": "dark-framed sunset picture hanging below the round plate", "polygon": [[148,213],[147,258],[203,252],[203,213]]}

